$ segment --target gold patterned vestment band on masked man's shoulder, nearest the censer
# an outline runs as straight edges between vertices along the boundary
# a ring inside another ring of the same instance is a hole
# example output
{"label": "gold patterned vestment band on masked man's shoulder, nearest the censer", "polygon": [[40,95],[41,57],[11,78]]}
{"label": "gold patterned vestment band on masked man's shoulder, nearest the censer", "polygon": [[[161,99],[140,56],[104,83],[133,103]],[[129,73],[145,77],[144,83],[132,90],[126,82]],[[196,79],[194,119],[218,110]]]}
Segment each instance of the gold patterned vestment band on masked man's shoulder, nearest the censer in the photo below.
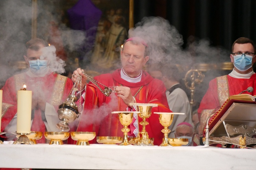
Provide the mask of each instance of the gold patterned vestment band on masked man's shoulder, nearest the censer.
{"label": "gold patterned vestment band on masked man's shoulder, nearest the censer", "polygon": [[61,104],[67,77],[58,74],[53,87],[51,105]]}

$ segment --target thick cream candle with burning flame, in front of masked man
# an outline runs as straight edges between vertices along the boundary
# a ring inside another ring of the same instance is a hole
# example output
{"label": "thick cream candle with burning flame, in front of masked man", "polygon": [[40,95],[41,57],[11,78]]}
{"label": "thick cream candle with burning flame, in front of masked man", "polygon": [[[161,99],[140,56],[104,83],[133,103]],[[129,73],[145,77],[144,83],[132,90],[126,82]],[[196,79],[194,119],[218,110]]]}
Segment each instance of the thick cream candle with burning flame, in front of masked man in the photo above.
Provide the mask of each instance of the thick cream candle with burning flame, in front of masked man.
{"label": "thick cream candle with burning flame, in front of masked man", "polygon": [[30,133],[32,91],[23,89],[17,91],[17,133]]}

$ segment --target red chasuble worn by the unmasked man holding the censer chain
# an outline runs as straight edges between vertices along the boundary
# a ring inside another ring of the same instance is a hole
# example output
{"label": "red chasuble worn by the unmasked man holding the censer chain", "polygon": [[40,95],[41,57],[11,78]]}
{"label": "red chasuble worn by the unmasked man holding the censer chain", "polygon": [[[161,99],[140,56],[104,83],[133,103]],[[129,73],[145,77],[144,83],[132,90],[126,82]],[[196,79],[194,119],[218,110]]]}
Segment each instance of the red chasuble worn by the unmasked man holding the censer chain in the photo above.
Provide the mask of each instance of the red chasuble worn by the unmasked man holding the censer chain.
{"label": "red chasuble worn by the unmasked man holding the censer chain", "polygon": [[[114,86],[130,87],[131,93],[136,98],[137,103],[156,103],[158,107],[152,108],[150,118],[146,119],[146,131],[150,138],[154,138],[154,145],[160,145],[163,138],[161,130],[163,126],[159,122],[158,114],[154,112],[171,112],[166,98],[166,88],[162,81],[152,78],[143,71],[141,81],[130,83],[120,77],[120,70],[115,70],[112,74],[102,74],[94,79],[111,88]],[[102,89],[104,87],[100,85]],[[118,114],[111,114],[113,111],[126,111],[127,105],[116,93],[106,97],[91,82],[85,89],[84,110],[77,128],[78,132],[96,132],[96,136],[121,136],[123,125],[120,123]],[[139,122],[142,119],[139,117]],[[142,126],[139,125],[139,131]],[[96,138],[91,143],[96,143]]]}

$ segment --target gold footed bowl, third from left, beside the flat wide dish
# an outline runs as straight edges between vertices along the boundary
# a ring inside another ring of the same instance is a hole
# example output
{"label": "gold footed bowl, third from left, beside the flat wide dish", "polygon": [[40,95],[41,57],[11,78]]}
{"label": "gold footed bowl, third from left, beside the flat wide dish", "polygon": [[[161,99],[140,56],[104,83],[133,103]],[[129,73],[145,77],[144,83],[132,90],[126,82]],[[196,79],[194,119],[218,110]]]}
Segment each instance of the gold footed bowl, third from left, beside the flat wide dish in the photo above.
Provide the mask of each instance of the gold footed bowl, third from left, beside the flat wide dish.
{"label": "gold footed bowl, third from left, beside the flat wide dish", "polygon": [[71,138],[76,141],[76,145],[90,145],[89,140],[96,136],[95,132],[70,132]]}

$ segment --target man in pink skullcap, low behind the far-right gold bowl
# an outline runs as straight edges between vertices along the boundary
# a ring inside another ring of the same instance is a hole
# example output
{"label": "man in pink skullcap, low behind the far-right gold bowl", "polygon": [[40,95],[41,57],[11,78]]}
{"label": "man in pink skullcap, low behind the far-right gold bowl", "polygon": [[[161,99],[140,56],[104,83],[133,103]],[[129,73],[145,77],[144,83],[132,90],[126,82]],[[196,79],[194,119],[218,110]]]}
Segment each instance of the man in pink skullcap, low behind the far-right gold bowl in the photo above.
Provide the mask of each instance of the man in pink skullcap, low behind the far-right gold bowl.
{"label": "man in pink skullcap, low behind the far-right gold bowl", "polygon": [[190,123],[182,122],[176,126],[175,138],[186,138],[188,139],[188,144],[183,146],[197,146],[197,144],[192,140],[195,136],[194,128]]}

